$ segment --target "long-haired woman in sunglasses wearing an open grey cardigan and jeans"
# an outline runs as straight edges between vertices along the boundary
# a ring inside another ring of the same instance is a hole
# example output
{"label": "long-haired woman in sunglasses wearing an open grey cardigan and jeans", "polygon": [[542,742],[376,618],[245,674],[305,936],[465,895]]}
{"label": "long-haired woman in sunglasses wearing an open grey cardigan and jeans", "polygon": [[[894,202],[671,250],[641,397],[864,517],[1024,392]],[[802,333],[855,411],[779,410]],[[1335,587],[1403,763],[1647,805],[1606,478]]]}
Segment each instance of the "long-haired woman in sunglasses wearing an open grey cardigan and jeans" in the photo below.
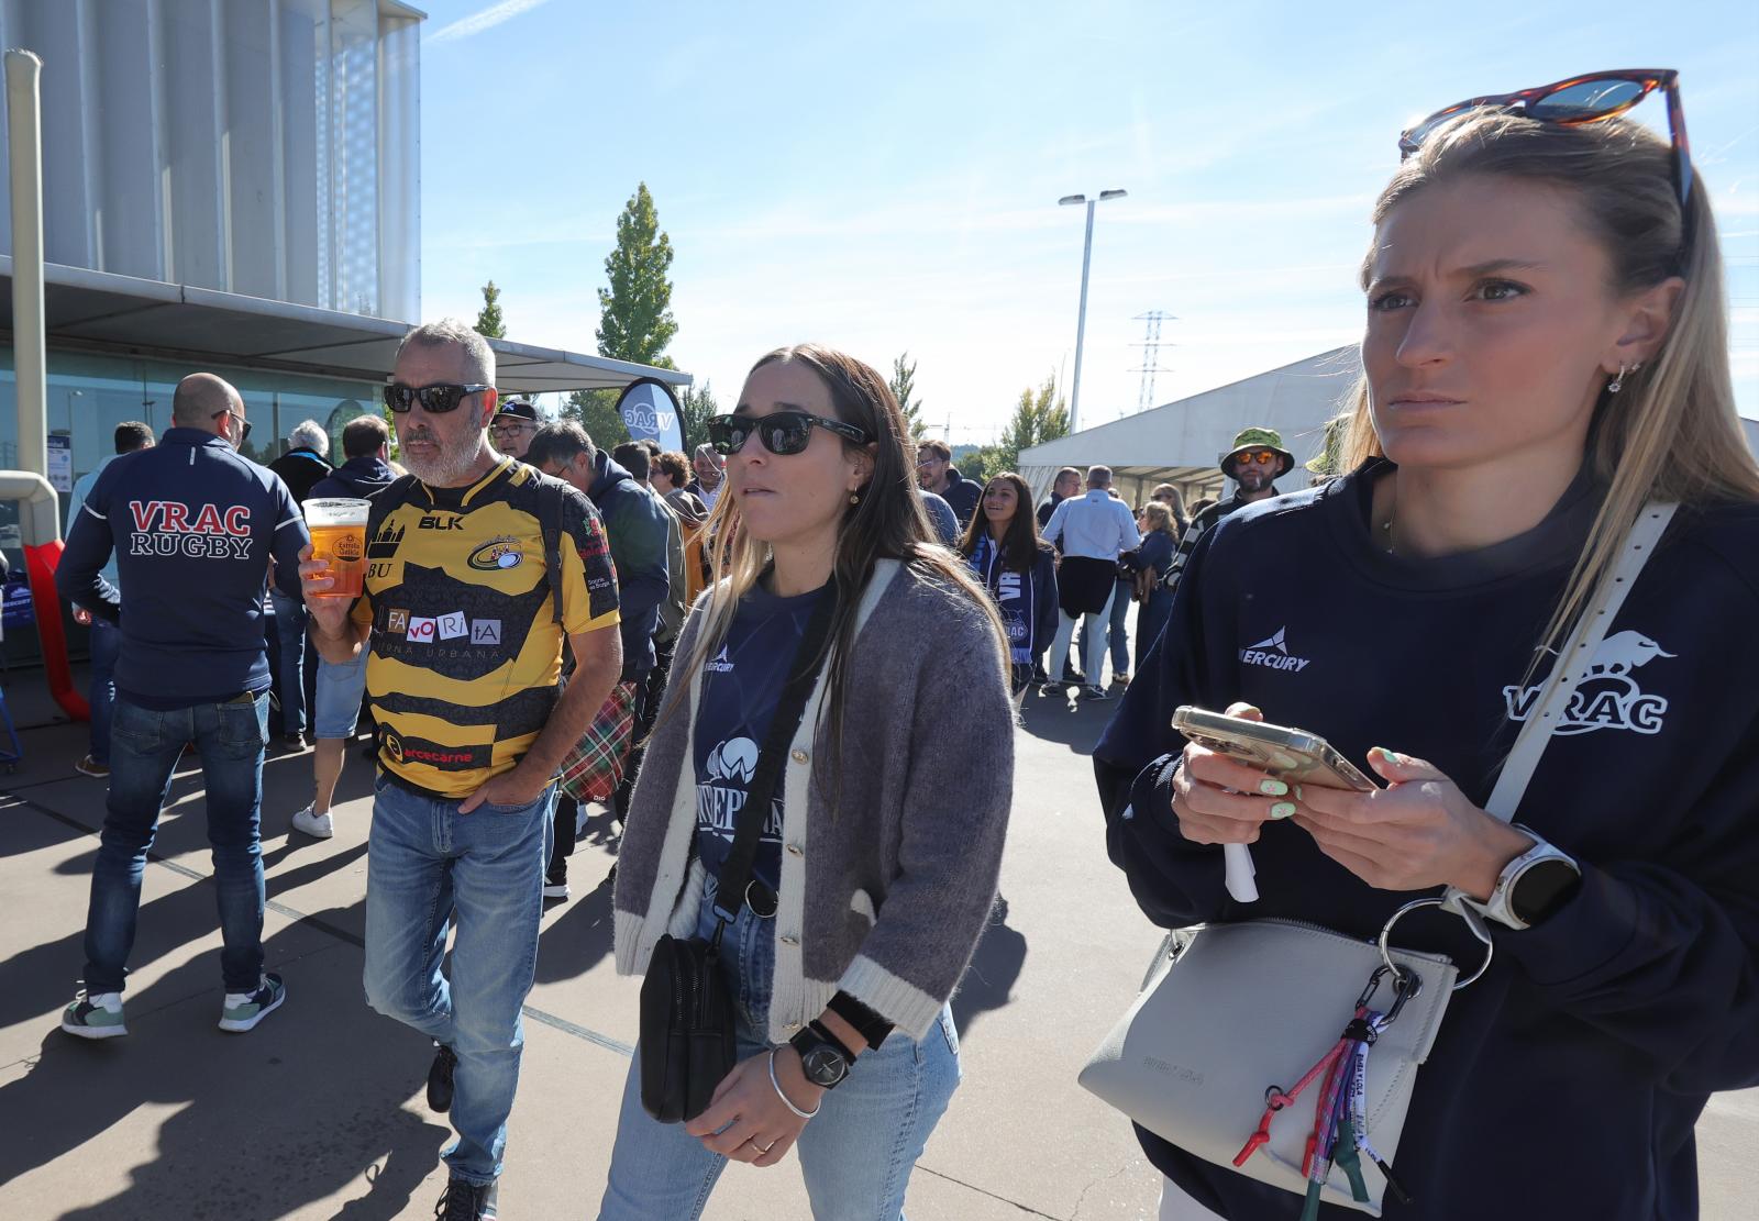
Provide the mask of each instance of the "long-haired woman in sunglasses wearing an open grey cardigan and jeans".
{"label": "long-haired woman in sunglasses wearing an open grey cardigan and jeans", "polygon": [[[806,623],[828,658],[788,748],[753,885],[725,931],[739,1064],[661,1124],[630,1066],[602,1221],[700,1216],[728,1158],[795,1145],[813,1216],[897,1217],[959,1084],[946,1001],[971,959],[1013,797],[1006,637],[931,544],[897,401],[872,368],[781,348],[711,422],[730,545],[679,637],[617,864],[617,971],[709,936],[726,859]],[[728,950],[728,947],[732,947]]]}

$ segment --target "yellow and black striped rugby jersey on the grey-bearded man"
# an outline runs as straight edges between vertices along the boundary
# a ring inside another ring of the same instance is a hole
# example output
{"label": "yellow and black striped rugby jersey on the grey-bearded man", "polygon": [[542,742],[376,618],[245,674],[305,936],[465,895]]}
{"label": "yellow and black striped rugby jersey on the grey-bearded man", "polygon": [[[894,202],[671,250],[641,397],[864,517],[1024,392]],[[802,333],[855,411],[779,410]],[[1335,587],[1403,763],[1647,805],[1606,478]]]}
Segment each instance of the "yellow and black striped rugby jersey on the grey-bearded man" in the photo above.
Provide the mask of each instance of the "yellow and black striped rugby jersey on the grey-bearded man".
{"label": "yellow and black striped rugby jersey on the grey-bearded man", "polygon": [[[373,625],[378,762],[412,788],[466,797],[510,771],[556,706],[565,633],[617,623],[598,510],[568,486],[542,496],[544,482],[505,457],[471,487],[412,480],[375,498],[354,619]],[[561,623],[540,523],[558,505]]]}

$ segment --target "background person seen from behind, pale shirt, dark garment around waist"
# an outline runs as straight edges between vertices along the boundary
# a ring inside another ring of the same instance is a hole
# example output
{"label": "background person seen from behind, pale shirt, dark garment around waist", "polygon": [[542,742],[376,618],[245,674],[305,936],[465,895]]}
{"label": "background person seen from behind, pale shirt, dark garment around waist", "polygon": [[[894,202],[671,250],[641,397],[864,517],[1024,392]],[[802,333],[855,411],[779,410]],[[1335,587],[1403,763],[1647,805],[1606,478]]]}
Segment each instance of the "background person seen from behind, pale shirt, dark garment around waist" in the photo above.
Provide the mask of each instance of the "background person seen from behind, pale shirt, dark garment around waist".
{"label": "background person seen from behind, pale shirt, dark garment around waist", "polygon": [[1057,625],[1057,639],[1050,646],[1052,681],[1040,688],[1041,695],[1062,690],[1055,681],[1062,674],[1062,663],[1069,656],[1069,640],[1075,637],[1075,625],[1087,618],[1087,686],[1082,698],[1112,698],[1103,683],[1105,667],[1105,625],[1117,593],[1117,558],[1126,551],[1135,551],[1142,544],[1136,519],[1129,505],[1113,500],[1110,494],[1112,468],[1087,468],[1087,494],[1064,500],[1050,514],[1045,526],[1045,540],[1062,549],[1062,563],[1057,567],[1057,602],[1062,621]]}

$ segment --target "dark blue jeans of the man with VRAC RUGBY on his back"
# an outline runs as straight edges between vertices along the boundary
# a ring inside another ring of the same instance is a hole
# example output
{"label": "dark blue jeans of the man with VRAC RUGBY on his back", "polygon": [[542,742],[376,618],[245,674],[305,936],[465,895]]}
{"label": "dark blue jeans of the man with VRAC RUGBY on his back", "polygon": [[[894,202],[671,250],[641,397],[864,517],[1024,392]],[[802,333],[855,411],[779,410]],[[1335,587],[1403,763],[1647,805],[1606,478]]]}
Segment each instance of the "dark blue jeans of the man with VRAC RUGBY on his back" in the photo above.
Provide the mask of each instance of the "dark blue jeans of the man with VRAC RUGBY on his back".
{"label": "dark blue jeans of the man with VRAC RUGBY on his back", "polygon": [[202,753],[208,843],[220,908],[220,973],[227,992],[253,992],[262,976],[262,748],[269,741],[269,693],[169,713],[118,695],[111,718],[111,779],[86,913],[86,992],[121,992],[141,873],[158,811],[185,742]]}

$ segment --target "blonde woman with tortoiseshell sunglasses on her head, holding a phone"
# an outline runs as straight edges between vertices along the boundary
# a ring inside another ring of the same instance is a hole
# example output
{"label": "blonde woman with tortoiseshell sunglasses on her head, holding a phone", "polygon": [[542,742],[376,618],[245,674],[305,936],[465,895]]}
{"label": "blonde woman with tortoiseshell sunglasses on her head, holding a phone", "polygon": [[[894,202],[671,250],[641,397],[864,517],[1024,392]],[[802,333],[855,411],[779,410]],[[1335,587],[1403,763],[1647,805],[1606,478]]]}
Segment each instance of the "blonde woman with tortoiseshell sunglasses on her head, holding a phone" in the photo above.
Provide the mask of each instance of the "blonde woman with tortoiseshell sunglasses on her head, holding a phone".
{"label": "blonde woman with tortoiseshell sunglasses on her head, holding a phone", "polygon": [[[1617,116],[1653,90],[1671,146]],[[1493,955],[1416,1077],[1395,1158],[1414,1203],[1386,1216],[1692,1217],[1694,1122],[1759,1082],[1759,470],[1715,222],[1671,72],[1474,99],[1404,151],[1363,264],[1349,473],[1196,549],[1096,751],[1108,846],[1166,927],[1374,938],[1463,894]],[[1599,647],[1560,663],[1608,605]],[[1580,677],[1506,823],[1485,806],[1553,667]],[[1377,786],[1289,786],[1173,734],[1180,704],[1319,734]],[[1251,844],[1258,903],[1224,888],[1224,844]],[[1398,945],[1462,980],[1485,957],[1449,915]],[[1166,1217],[1300,1212],[1143,1147]]]}

